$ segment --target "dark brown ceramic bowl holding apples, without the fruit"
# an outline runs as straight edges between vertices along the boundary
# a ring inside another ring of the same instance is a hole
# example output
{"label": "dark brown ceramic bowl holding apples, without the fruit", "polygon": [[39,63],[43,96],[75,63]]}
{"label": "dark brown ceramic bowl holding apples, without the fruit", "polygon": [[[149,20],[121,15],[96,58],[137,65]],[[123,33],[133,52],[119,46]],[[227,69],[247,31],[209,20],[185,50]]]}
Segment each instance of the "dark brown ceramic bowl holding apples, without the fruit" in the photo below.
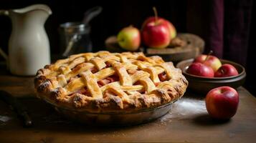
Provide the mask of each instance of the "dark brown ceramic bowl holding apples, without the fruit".
{"label": "dark brown ceramic bowl holding apples, without the fruit", "polygon": [[222,86],[229,86],[236,89],[237,87],[242,86],[245,82],[246,72],[245,68],[237,64],[233,61],[227,61],[224,59],[220,59],[222,64],[232,64],[238,71],[237,76],[232,77],[200,77],[193,74],[189,74],[186,72],[186,69],[188,69],[189,65],[192,63],[194,59],[187,59],[184,61],[180,61],[176,67],[182,70],[182,73],[186,77],[186,79],[189,81],[189,89],[193,90],[194,92],[198,92],[201,94],[207,94],[211,89],[214,89],[216,87],[222,87]]}

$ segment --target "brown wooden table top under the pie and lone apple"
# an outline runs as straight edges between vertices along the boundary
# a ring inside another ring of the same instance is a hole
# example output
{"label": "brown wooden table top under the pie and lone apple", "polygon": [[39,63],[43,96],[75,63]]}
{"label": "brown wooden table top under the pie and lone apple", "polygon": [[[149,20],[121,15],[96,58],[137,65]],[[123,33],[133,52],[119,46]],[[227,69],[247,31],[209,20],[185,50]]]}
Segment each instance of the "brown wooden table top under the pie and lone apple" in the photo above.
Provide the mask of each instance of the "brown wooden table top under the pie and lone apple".
{"label": "brown wooden table top under the pie and lone apple", "polygon": [[[52,107],[34,98],[33,77],[15,77],[0,71],[0,90],[22,102],[34,126],[23,128],[16,114],[0,101],[0,142],[255,142],[256,99],[237,89],[240,105],[227,122],[211,119],[204,98],[186,92],[161,119],[133,127],[88,127],[60,117]],[[4,120],[4,122],[3,122]]]}

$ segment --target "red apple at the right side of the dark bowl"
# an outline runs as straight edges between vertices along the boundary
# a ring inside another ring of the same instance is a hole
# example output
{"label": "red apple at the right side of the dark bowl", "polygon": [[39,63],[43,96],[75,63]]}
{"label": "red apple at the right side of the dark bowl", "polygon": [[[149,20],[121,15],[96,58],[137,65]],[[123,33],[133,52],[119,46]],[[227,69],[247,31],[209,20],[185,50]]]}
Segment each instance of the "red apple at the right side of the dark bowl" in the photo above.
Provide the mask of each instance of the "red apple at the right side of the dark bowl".
{"label": "red apple at the right side of the dark bowl", "polygon": [[214,73],[214,77],[231,77],[238,75],[237,69],[232,64],[223,64]]}

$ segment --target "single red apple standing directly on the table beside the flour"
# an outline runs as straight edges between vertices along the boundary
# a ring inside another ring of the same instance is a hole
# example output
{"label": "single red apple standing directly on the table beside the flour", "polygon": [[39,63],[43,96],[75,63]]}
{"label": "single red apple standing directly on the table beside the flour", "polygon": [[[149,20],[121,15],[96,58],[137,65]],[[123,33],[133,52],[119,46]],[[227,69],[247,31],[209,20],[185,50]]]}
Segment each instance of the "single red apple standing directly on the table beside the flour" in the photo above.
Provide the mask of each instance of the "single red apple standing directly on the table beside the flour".
{"label": "single red apple standing directly on the table beside the flour", "polygon": [[232,87],[217,87],[205,99],[207,112],[215,119],[229,119],[237,112],[239,95]]}

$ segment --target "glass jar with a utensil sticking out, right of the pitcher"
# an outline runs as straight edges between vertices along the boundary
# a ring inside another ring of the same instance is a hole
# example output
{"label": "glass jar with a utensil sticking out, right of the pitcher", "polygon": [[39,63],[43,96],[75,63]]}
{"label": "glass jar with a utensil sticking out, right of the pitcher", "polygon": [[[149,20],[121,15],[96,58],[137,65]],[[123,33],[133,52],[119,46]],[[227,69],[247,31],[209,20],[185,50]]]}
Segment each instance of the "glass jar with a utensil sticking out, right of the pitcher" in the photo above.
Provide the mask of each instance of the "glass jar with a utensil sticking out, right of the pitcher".
{"label": "glass jar with a utensil sticking out, right of the pitcher", "polygon": [[60,24],[60,41],[62,56],[77,54],[81,52],[92,51],[92,43],[90,41],[90,25],[89,22],[100,14],[103,10],[101,6],[95,6],[85,12],[85,16],[81,22],[66,22]]}

